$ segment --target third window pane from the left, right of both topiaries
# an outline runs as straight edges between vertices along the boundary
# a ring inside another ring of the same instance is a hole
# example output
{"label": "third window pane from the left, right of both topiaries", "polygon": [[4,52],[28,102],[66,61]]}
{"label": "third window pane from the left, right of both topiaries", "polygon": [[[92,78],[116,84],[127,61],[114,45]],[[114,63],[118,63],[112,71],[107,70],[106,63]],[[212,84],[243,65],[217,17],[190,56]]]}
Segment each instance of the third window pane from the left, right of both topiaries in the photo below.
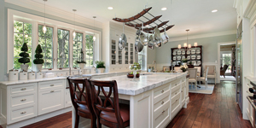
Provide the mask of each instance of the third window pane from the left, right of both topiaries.
{"label": "third window pane from the left, right of both topiaries", "polygon": [[69,31],[58,29],[57,67],[69,67]]}

